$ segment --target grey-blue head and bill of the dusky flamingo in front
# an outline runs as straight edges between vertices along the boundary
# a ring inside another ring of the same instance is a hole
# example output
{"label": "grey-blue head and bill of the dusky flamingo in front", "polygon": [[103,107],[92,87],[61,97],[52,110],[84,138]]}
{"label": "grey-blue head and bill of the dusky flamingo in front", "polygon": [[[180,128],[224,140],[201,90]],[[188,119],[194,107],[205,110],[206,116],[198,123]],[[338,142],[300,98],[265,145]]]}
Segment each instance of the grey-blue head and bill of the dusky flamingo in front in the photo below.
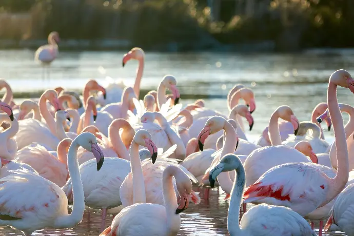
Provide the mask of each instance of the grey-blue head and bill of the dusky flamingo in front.
{"label": "grey-blue head and bill of the dusky flamingo in front", "polygon": [[[209,171],[209,182],[210,187],[213,188],[215,184],[215,180],[221,172],[228,172],[232,170],[237,170],[237,174],[239,173],[239,169],[243,169],[243,165],[241,160],[235,154],[226,154],[220,160],[218,165],[212,168]],[[238,174],[239,176],[239,174]],[[244,180],[245,181],[245,180]]]}

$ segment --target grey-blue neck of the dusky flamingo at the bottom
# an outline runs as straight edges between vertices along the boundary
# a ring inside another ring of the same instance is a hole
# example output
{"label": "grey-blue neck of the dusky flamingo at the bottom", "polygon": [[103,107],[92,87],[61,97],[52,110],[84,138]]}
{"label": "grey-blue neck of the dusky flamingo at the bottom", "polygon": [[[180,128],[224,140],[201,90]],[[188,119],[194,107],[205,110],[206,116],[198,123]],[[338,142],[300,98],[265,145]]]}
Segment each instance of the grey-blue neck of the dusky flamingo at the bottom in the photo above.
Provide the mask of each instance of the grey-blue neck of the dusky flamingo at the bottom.
{"label": "grey-blue neck of the dusky flamingo at the bottom", "polygon": [[227,212],[227,230],[230,236],[245,235],[245,233],[242,232],[243,230],[240,229],[239,219],[241,199],[246,184],[246,174],[243,167],[239,167],[235,169],[235,171],[235,181],[231,191],[229,210]]}

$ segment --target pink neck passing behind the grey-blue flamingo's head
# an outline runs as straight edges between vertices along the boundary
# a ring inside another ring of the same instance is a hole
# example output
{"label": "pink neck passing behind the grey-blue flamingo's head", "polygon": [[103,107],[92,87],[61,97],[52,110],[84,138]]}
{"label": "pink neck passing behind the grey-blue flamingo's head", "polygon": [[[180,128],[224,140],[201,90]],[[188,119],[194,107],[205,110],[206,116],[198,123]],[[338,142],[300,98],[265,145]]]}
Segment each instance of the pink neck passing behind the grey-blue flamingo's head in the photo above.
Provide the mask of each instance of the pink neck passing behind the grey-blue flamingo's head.
{"label": "pink neck passing behind the grey-blue flamingo's head", "polygon": [[[226,154],[233,153],[236,148],[237,137],[236,137],[236,132],[235,132],[233,126],[230,123],[225,122],[224,131],[225,131],[225,134],[224,134],[225,135],[225,142],[224,142],[223,150],[221,151],[221,154],[220,154],[220,159],[223,158],[223,156]],[[218,182],[219,182],[221,189],[224,192],[231,193],[233,183],[230,178],[229,172],[221,172],[218,176]]]}

